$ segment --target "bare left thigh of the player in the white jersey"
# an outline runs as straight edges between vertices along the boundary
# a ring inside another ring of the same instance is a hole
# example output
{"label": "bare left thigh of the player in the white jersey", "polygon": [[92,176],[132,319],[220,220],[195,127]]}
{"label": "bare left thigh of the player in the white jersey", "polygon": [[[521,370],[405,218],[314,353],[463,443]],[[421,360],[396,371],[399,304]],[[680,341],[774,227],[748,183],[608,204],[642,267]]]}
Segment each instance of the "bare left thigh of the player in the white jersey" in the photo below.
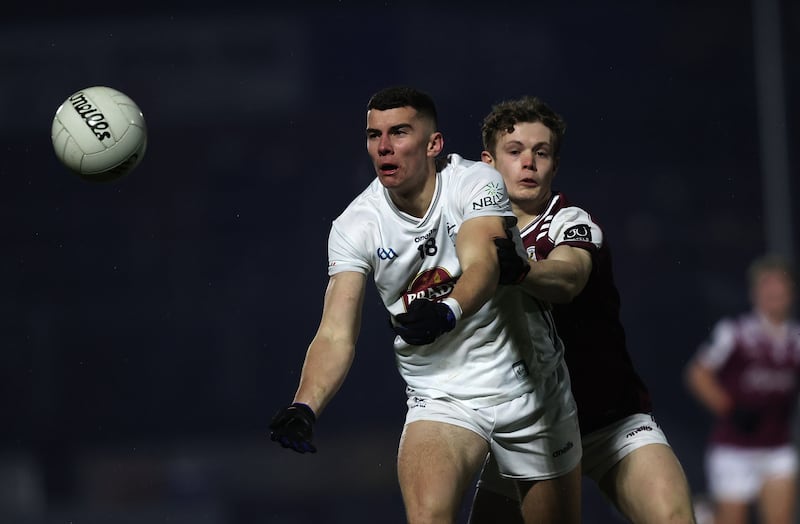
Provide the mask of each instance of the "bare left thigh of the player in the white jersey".
{"label": "bare left thigh of the player in the white jersey", "polygon": [[397,469],[409,522],[453,519],[488,450],[483,437],[464,427],[431,420],[407,424]]}

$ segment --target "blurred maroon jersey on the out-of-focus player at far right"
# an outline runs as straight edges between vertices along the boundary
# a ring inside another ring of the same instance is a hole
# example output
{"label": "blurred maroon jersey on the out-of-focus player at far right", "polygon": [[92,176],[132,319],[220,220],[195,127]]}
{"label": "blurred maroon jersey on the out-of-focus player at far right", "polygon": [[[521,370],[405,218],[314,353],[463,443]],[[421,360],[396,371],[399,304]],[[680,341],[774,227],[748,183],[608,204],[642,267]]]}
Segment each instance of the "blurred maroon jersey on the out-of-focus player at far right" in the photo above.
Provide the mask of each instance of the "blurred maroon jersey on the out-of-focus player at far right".
{"label": "blurred maroon jersey on the out-of-focus player at far right", "polygon": [[[720,320],[696,355],[740,410],[717,419],[711,441],[743,447],[789,444],[800,373],[800,325],[770,326],[756,313]],[[741,411],[740,411],[741,412]]]}

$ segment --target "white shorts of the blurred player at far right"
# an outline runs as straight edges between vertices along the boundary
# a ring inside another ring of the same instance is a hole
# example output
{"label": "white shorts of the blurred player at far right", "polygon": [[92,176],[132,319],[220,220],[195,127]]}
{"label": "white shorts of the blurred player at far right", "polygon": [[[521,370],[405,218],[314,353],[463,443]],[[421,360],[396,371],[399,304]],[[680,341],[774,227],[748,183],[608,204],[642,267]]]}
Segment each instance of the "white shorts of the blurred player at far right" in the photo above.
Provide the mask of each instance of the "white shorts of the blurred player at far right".
{"label": "white shorts of the blurred player at far right", "polygon": [[711,446],[706,453],[708,489],[715,500],[752,502],[768,478],[793,477],[797,451],[775,448]]}

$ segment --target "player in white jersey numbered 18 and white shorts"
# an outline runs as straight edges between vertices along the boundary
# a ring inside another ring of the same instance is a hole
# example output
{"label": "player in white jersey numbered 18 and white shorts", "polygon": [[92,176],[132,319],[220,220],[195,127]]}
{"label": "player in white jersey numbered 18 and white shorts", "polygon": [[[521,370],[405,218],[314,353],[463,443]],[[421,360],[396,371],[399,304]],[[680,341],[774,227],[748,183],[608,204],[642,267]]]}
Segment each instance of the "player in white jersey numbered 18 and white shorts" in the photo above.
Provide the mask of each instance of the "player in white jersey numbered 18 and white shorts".
{"label": "player in white jersey numbered 18 and white shorts", "polygon": [[[579,522],[580,433],[557,339],[544,316],[529,329],[516,287],[498,287],[495,238],[519,248],[504,283],[528,269],[502,177],[457,155],[438,162],[443,137],[425,93],[388,88],[367,107],[377,178],[331,227],[322,319],[272,440],[316,451],[312,427],[354,357],[372,273],[407,384],[398,476],[408,521],[453,522],[491,449],[516,481],[526,522]],[[531,352],[540,357],[526,360]]]}

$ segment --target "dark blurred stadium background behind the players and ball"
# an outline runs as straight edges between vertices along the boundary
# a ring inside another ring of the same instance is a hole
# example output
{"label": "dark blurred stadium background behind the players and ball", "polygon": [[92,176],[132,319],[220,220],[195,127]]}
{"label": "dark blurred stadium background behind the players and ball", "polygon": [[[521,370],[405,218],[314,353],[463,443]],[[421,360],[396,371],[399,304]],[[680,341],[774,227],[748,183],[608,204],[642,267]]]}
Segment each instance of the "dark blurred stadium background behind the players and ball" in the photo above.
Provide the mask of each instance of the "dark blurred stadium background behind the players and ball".
{"label": "dark blurred stadium background behind the players and ball", "polygon": [[[266,427],[316,328],[331,220],[372,177],[366,100],[396,83],[434,95],[445,149],[472,158],[494,102],[565,116],[556,186],[606,229],[632,356],[702,496],[708,419],[681,373],[748,307],[748,262],[795,254],[797,181],[764,188],[797,173],[800,5],[761,4],[778,53],[759,62],[741,0],[373,4],[3,8],[0,522],[403,522],[404,392],[374,290],[319,453]],[[50,144],[55,109],[91,85],[148,124],[113,184]],[[765,100],[784,126],[762,127]],[[584,504],[618,521],[591,487]]]}

